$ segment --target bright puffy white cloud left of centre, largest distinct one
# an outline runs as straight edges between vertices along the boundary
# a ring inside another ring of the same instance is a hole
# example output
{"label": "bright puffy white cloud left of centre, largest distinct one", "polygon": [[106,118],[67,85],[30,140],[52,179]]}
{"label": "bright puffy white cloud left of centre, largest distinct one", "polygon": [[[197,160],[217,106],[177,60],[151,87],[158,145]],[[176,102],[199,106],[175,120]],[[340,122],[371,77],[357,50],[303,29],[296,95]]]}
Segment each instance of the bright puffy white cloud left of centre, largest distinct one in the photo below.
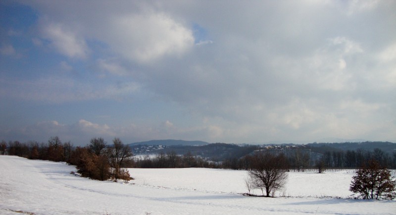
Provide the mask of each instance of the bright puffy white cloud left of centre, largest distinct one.
{"label": "bright puffy white cloud left of centre, largest distinct one", "polygon": [[99,38],[128,59],[148,63],[165,55],[181,55],[194,45],[193,32],[162,13],[111,17],[110,33]]}

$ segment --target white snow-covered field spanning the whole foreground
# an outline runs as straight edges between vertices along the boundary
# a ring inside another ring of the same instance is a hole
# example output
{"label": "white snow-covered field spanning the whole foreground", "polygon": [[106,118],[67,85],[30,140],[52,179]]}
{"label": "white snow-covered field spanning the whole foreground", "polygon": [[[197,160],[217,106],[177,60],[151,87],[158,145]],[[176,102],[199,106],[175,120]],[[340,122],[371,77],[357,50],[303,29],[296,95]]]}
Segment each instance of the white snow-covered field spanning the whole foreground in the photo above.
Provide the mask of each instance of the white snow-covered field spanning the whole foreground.
{"label": "white snow-covered field spanning the whole foreground", "polygon": [[261,198],[239,194],[241,170],[129,169],[125,184],[72,175],[62,162],[0,156],[0,166],[0,214],[396,214],[396,201],[345,199],[347,171],[291,172],[282,192],[293,197]]}

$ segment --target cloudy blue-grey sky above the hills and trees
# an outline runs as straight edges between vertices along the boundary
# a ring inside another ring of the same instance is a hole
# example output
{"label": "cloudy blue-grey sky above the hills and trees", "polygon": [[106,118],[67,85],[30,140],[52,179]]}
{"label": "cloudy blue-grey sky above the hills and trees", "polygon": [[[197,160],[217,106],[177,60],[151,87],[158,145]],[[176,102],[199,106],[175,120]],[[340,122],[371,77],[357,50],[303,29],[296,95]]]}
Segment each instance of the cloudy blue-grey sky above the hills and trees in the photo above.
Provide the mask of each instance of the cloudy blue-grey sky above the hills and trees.
{"label": "cloudy blue-grey sky above the hills and trees", "polygon": [[0,140],[396,142],[394,0],[0,2]]}

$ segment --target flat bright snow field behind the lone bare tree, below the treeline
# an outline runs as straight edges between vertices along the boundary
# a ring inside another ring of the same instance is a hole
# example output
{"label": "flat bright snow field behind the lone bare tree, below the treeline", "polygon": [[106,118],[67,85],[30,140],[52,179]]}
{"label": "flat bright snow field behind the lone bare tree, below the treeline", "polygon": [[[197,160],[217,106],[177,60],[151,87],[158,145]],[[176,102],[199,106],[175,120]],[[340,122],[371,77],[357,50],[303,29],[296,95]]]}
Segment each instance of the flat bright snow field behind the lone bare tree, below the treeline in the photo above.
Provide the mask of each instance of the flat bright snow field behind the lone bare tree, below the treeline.
{"label": "flat bright snow field behind the lone bare tree, below the treeline", "polygon": [[[247,171],[207,168],[182,169],[129,169],[136,178],[131,183],[166,187],[173,189],[197,190],[217,193],[247,193],[244,180]],[[352,170],[316,172],[290,172],[287,186],[275,196],[291,197],[343,197],[348,198]],[[261,190],[254,194],[262,195]]]}

